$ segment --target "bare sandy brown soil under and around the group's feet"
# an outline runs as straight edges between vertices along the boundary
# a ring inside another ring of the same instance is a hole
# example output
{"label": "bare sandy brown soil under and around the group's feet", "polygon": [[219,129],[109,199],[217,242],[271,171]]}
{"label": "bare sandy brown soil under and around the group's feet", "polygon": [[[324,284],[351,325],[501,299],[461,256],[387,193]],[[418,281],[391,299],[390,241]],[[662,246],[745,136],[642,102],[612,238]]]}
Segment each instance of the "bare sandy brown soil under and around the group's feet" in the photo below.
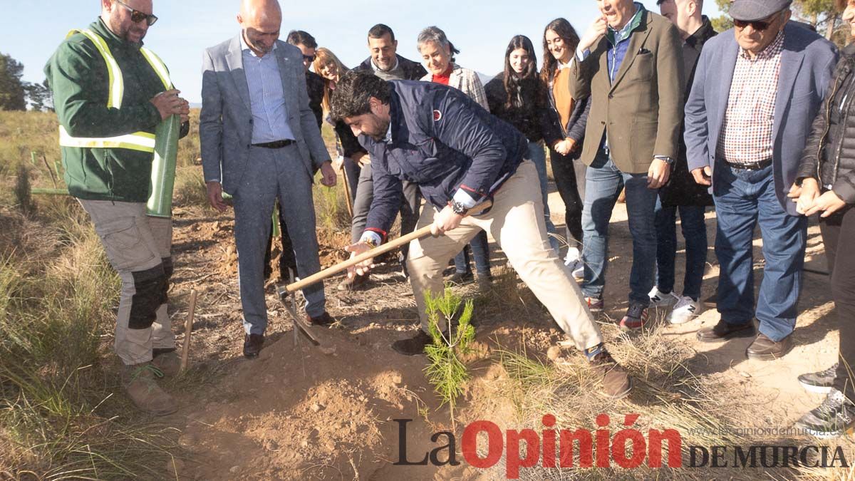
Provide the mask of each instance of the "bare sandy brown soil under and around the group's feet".
{"label": "bare sandy brown soil under and around the group's feet", "polygon": [[[557,194],[551,194],[552,211],[563,211]],[[555,216],[556,223],[563,221]],[[716,288],[717,265],[712,251],[715,215],[709,219],[711,247],[705,275],[704,297]],[[380,267],[367,290],[339,293],[340,276],[326,284],[327,308],[340,326],[318,330],[321,347],[302,337],[295,341],[287,312],[268,286],[270,326],[259,359],[241,356],[243,328],[236,282],[236,258],[231,218],[210,211],[180,210],[175,217],[174,258],[176,271],[171,296],[174,330],[183,341],[183,324],[189,294],[199,293],[192,337],[193,371],[190,385],[173,386],[181,405],[179,413],[164,422],[180,431],[179,443],[186,456],[168,466],[182,479],[448,479],[494,478],[500,472],[483,472],[465,466],[394,466],[398,460],[398,424],[410,423],[411,459],[421,458],[436,447],[430,435],[450,429],[447,408],[439,407],[433,389],[422,372],[424,357],[400,356],[389,344],[416,329],[415,302],[408,282],[397,264]],[[678,235],[678,238],[680,236]],[[335,247],[346,239],[321,233],[326,246],[323,263],[342,258]],[[763,260],[761,241],[755,241],[755,269],[759,283]],[[504,264],[495,245],[494,273]],[[679,240],[677,288],[684,262]],[[603,323],[614,322],[626,308],[631,244],[626,212],[617,205],[611,223],[610,271]],[[825,270],[823,246],[816,227],[811,227],[808,248],[811,269]],[[476,295],[474,286],[462,288]],[[473,416],[506,419],[512,425],[510,400],[485,399],[504,374],[489,357],[498,346],[525,347],[529,356],[546,359],[546,350],[563,336],[530,295],[527,307],[477,304],[477,353],[470,359],[473,379],[467,385],[458,419]],[[799,388],[796,376],[825,368],[836,355],[837,320],[828,299],[828,277],[805,274],[801,297],[802,315],[796,330],[796,347],[783,359],[760,362],[745,359],[749,340],[703,346],[695,341],[702,326],[715,324],[717,312],[704,312],[697,320],[665,327],[662,342],[687,347],[684,365],[706,382],[727,386],[722,402],[735,402],[744,410],[746,426],[787,427],[822,397]],[[578,353],[568,353],[578,356]],[[623,360],[623,359],[619,359]],[[195,382],[193,382],[195,380]],[[728,398],[728,399],[725,399]],[[618,401],[618,411],[640,412],[634,397]],[[488,407],[488,408],[487,408]],[[485,411],[488,409],[488,413]],[[597,413],[592,412],[591,425]],[[457,424],[459,439],[460,423]],[[804,444],[805,442],[803,442]],[[459,444],[458,444],[459,449]],[[626,473],[632,476],[631,472]],[[585,477],[584,474],[581,475]],[[724,471],[723,478],[755,478],[738,471]]]}

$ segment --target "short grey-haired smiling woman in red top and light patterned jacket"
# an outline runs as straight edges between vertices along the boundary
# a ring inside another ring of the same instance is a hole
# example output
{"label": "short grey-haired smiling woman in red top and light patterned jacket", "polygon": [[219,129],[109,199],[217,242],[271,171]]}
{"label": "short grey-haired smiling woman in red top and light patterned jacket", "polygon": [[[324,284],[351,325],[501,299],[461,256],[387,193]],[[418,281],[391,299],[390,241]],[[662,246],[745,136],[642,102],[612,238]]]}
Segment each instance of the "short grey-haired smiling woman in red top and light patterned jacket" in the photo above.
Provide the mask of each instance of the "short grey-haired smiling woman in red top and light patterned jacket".
{"label": "short grey-haired smiling woman in red top and light patterned jacket", "polygon": [[[454,62],[454,55],[460,53],[460,50],[451,45],[451,42],[445,37],[445,32],[439,27],[425,28],[419,33],[416,45],[422,55],[425,68],[428,69],[428,74],[422,77],[422,80],[456,88],[475,100],[484,109],[490,110],[486,103],[486,94],[481,79],[478,78],[478,74],[474,70],[463,68]],[[475,235],[475,238],[469,242],[469,247],[472,248],[472,257],[475,258],[478,285],[482,290],[485,290],[492,282],[490,246],[487,242],[486,232],[482,231]],[[466,247],[454,258],[454,270],[451,282],[464,283],[472,280],[472,267],[469,264],[469,252]]]}

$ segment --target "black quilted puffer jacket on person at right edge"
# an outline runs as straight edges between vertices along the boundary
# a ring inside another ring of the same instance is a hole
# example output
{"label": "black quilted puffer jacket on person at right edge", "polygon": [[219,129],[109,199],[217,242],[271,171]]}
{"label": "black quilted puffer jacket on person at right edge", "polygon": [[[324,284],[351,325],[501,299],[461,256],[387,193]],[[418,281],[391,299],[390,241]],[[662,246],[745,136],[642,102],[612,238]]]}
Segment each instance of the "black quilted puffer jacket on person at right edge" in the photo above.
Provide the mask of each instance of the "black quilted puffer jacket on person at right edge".
{"label": "black quilted puffer jacket on person at right edge", "polygon": [[841,52],[831,89],[811,127],[796,183],[812,177],[855,204],[855,44]]}

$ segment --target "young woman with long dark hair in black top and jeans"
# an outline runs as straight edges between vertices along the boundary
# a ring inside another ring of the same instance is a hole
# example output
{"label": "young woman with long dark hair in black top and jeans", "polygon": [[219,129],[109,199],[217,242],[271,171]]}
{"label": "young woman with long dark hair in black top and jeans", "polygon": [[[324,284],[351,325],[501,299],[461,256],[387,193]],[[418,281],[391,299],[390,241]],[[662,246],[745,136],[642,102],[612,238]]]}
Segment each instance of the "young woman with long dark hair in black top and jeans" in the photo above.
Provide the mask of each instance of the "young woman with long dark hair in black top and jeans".
{"label": "young woman with long dark hair in black top and jeans", "polygon": [[546,84],[538,74],[537,54],[528,37],[516,35],[510,39],[504,51],[504,72],[487,82],[484,90],[490,112],[513,125],[528,139],[528,155],[540,177],[546,232],[557,253],[561,246],[555,237],[555,224],[551,221],[547,202],[549,187],[544,142],[552,148],[563,142],[564,137],[555,110],[550,106]]}

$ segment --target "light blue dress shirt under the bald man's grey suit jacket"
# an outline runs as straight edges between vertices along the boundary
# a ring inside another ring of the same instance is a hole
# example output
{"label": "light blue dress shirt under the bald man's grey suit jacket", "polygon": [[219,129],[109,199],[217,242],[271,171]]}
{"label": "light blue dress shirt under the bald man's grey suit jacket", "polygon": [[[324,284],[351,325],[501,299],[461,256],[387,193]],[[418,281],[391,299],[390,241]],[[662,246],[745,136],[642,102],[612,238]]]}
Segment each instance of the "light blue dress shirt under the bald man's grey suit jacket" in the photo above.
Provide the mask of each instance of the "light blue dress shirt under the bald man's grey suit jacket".
{"label": "light blue dress shirt under the bald man's grey suit jacket", "polygon": [[275,140],[294,140],[288,124],[288,107],[282,90],[282,77],[276,59],[276,45],[264,56],[257,56],[244,36],[240,36],[246,85],[250,88],[252,109],[252,142],[263,144]]}

